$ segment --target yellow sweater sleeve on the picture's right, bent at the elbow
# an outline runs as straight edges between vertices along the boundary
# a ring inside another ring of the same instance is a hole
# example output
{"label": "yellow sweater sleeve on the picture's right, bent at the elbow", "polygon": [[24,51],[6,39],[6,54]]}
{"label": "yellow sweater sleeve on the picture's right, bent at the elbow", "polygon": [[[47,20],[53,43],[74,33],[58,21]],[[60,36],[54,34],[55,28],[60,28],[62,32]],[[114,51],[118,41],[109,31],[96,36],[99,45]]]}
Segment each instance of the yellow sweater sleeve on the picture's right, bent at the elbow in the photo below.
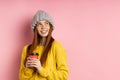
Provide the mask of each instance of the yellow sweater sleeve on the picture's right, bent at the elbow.
{"label": "yellow sweater sleeve on the picture's right, bent at the elbow", "polygon": [[56,69],[53,71],[45,67],[39,71],[39,74],[43,77],[47,77],[48,80],[67,80],[68,65],[66,51],[60,44],[57,44],[54,49]]}

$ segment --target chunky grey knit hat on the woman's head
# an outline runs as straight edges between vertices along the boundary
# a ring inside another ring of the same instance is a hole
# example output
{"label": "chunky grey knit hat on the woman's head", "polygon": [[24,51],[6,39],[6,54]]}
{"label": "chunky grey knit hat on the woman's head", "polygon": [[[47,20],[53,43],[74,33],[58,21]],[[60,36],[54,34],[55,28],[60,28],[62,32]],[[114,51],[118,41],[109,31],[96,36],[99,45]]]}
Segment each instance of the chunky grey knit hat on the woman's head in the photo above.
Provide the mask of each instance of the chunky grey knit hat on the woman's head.
{"label": "chunky grey knit hat on the woman's head", "polygon": [[32,20],[32,30],[33,31],[34,31],[34,28],[35,28],[37,22],[41,21],[41,20],[47,20],[48,22],[50,22],[54,29],[54,22],[52,20],[52,17],[49,14],[47,14],[45,11],[39,10],[39,11],[37,11],[37,13],[35,14],[35,16],[33,17],[33,20]]}

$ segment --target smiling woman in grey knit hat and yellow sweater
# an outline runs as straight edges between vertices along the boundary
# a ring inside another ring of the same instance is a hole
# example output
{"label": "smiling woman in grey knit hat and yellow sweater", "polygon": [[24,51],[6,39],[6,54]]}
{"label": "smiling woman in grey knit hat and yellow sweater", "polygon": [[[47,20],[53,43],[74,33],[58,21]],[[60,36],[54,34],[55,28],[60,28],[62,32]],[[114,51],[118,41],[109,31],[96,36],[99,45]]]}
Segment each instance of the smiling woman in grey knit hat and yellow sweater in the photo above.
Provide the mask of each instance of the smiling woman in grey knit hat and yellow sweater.
{"label": "smiling woman in grey knit hat and yellow sweater", "polygon": [[[22,51],[20,80],[67,80],[66,52],[51,36],[54,29],[52,18],[44,11],[36,13],[32,21],[33,42]],[[30,57],[37,54],[37,57]]]}

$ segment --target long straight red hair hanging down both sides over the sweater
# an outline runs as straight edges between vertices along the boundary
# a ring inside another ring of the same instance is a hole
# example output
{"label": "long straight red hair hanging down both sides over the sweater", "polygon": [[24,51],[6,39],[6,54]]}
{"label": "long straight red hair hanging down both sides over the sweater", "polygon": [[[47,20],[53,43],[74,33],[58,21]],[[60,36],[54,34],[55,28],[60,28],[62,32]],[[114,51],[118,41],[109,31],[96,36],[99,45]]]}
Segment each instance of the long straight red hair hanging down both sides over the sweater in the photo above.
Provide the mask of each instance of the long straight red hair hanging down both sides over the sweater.
{"label": "long straight red hair hanging down both sides over the sweater", "polygon": [[[47,39],[46,39],[46,42],[44,45],[44,50],[43,50],[42,56],[40,58],[42,65],[45,64],[48,52],[51,49],[52,42],[54,41],[54,38],[52,37],[52,31],[53,31],[53,27],[50,24],[50,30],[49,30],[48,36],[46,37]],[[37,47],[37,45],[39,45],[41,39],[42,39],[42,37],[38,34],[37,29],[35,27],[33,42],[27,48],[27,55],[29,55],[30,53],[33,52],[33,50]]]}

